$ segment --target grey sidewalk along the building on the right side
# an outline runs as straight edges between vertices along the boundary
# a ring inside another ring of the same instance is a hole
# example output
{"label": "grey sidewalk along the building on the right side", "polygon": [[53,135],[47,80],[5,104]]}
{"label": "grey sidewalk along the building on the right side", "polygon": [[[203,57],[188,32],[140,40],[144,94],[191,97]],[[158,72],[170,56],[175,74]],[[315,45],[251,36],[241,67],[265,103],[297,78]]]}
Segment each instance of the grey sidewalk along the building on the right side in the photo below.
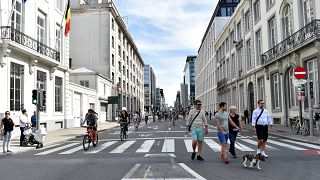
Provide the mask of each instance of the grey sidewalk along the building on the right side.
{"label": "grey sidewalk along the building on the right side", "polygon": [[[242,122],[242,125],[244,129],[251,131],[251,128],[252,128],[251,124],[244,124]],[[271,128],[269,128],[269,134],[271,135],[320,145],[320,134],[319,132],[317,132],[316,129],[314,130],[314,136],[311,137],[311,136],[294,135],[290,127],[284,127],[281,125],[273,125],[273,127],[274,127],[274,131],[272,131]]]}

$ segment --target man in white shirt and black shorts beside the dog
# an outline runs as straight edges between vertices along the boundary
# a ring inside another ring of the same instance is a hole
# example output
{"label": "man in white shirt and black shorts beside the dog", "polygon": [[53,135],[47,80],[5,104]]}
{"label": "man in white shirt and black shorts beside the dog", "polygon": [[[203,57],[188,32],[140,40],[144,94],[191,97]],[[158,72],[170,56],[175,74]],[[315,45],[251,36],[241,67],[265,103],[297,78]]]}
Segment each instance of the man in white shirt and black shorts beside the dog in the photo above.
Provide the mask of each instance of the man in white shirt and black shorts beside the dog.
{"label": "man in white shirt and black shorts beside the dog", "polygon": [[257,155],[262,155],[265,158],[269,156],[265,153],[266,142],[268,140],[268,126],[273,130],[272,119],[268,110],[264,109],[264,101],[258,101],[258,108],[252,113],[252,129],[258,137]]}

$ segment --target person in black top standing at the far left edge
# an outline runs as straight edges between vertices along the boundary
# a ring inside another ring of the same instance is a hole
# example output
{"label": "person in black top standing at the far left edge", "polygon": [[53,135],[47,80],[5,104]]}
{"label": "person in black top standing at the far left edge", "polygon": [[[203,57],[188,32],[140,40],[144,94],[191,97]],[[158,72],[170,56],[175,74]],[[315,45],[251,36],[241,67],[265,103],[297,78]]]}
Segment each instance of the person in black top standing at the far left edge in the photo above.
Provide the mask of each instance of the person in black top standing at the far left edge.
{"label": "person in black top standing at the far left edge", "polygon": [[[2,128],[3,127],[3,128]],[[11,151],[11,137],[14,128],[14,122],[10,118],[10,112],[5,112],[5,118],[0,122],[1,133],[3,132],[3,153],[12,153]]]}

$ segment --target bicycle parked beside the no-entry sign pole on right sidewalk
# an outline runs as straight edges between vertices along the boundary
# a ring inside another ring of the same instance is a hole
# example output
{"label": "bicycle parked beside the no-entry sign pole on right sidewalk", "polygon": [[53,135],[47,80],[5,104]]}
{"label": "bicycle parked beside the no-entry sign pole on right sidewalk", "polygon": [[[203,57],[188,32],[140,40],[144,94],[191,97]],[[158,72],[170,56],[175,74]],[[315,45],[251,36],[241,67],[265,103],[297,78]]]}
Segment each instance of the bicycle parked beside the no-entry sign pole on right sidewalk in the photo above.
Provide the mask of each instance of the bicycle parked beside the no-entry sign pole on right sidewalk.
{"label": "bicycle parked beside the no-entry sign pole on right sidewalk", "polygon": [[291,131],[293,134],[302,134],[307,136],[310,134],[309,119],[303,117],[302,121],[299,116],[294,117],[294,120],[290,121]]}

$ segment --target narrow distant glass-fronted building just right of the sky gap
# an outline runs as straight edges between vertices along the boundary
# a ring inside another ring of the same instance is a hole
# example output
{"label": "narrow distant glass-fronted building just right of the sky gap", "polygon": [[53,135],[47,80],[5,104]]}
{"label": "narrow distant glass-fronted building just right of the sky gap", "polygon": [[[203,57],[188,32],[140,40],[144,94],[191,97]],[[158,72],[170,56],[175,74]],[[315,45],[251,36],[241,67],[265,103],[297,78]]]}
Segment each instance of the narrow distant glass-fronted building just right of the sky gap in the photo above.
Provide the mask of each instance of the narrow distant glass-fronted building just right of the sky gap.
{"label": "narrow distant glass-fronted building just right of the sky gap", "polygon": [[[194,105],[195,101],[195,61],[197,56],[188,56],[183,73],[183,89],[181,88],[181,105],[184,110]],[[183,90],[183,92],[182,92]]]}

